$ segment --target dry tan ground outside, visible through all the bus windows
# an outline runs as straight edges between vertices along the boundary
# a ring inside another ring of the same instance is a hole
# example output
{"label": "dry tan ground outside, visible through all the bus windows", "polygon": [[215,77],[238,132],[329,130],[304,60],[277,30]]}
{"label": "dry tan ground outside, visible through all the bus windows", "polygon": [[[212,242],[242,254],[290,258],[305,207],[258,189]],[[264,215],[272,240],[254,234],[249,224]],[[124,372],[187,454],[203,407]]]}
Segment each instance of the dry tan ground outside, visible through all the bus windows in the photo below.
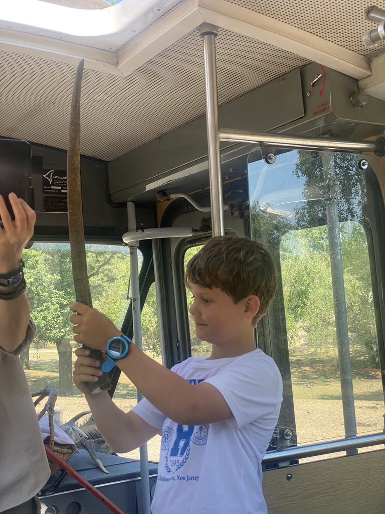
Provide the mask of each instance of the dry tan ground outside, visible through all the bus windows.
{"label": "dry tan ground outside, visible through all the bus windows", "polygon": [[[313,351],[300,344],[291,348],[290,360],[298,444],[344,437],[340,382],[333,353],[320,359]],[[43,350],[40,355],[31,353],[31,368],[31,371],[26,372],[31,390],[48,385],[56,386],[57,371],[53,370],[57,370],[57,353],[54,350]],[[382,431],[384,403],[379,370],[355,366],[353,389],[357,434]],[[135,405],[136,389],[127,377],[121,376],[114,393],[114,401],[124,411]],[[73,397],[59,396],[56,408],[61,411],[64,423],[75,414],[88,410],[83,395],[76,388]],[[150,440],[147,447],[149,460],[158,462],[160,436]],[[139,449],[124,455],[137,459]],[[315,457],[317,458],[325,456]]]}

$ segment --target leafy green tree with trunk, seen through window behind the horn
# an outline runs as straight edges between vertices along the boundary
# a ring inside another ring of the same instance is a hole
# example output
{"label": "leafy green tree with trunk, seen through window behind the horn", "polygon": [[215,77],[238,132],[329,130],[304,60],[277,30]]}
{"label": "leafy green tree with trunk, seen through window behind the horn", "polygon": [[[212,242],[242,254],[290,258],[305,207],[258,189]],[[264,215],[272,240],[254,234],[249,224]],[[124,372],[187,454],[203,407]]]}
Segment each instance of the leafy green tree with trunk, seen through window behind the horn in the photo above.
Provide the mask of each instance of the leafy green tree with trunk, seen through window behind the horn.
{"label": "leafy green tree with trunk, seen through window behind the horn", "polygon": [[[35,244],[25,250],[28,299],[37,326],[36,348],[48,342],[59,355],[58,393],[72,396],[72,324],[69,305],[75,295],[69,245]],[[93,245],[87,248],[88,273],[93,306],[119,325],[125,303],[129,259],[123,247]]]}

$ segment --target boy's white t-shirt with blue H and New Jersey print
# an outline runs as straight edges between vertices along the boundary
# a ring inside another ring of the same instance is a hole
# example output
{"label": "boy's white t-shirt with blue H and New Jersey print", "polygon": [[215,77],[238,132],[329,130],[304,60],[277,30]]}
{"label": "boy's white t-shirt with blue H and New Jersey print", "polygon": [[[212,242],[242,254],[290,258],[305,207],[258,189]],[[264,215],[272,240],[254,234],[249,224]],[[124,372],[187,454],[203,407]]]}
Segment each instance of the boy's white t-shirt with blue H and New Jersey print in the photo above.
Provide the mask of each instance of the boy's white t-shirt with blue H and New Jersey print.
{"label": "boy's white t-shirt with blue H and New Jersey print", "polygon": [[277,424],[282,379],[271,357],[189,358],[172,371],[223,395],[234,418],[178,425],[143,399],[132,410],[162,429],[153,514],[265,514],[262,458]]}

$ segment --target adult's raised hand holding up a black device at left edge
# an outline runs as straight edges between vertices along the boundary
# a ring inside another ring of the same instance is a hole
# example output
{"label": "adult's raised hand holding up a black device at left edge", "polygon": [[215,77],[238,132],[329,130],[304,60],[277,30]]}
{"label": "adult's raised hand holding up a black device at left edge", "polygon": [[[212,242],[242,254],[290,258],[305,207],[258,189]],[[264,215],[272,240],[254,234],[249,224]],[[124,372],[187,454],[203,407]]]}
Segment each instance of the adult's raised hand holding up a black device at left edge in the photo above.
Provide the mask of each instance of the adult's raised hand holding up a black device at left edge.
{"label": "adult's raised hand holding up a black device at left edge", "polygon": [[0,195],[0,217],[3,226],[0,226],[0,274],[15,271],[20,266],[22,250],[33,235],[36,214],[22,199],[14,193],[9,194],[15,219],[5,205]]}

